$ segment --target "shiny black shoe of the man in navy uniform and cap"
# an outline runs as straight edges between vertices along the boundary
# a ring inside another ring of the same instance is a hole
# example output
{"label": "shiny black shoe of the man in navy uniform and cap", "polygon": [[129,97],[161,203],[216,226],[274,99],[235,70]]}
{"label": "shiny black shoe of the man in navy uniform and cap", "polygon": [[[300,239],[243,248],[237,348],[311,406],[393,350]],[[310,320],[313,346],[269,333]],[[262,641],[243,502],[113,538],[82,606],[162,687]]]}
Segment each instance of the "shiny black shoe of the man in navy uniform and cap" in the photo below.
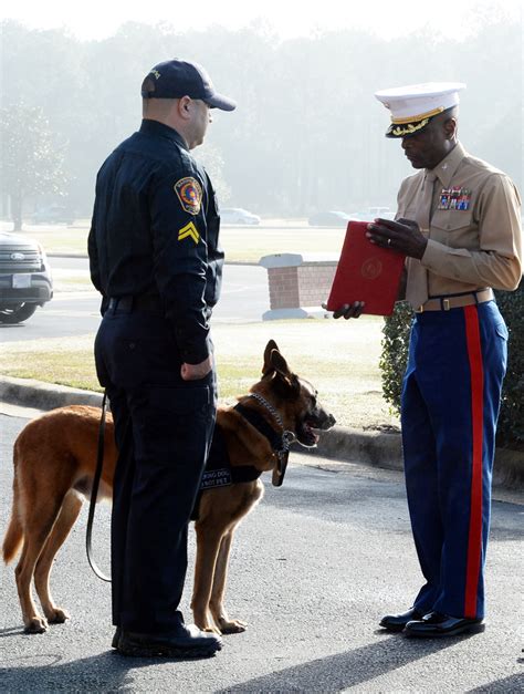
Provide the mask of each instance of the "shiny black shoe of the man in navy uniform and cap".
{"label": "shiny black shoe of the man in navy uniform and cap", "polygon": [[200,631],[195,624],[180,624],[176,632],[168,634],[143,634],[123,629],[117,644],[118,653],[136,657],[210,657],[221,648],[220,636]]}

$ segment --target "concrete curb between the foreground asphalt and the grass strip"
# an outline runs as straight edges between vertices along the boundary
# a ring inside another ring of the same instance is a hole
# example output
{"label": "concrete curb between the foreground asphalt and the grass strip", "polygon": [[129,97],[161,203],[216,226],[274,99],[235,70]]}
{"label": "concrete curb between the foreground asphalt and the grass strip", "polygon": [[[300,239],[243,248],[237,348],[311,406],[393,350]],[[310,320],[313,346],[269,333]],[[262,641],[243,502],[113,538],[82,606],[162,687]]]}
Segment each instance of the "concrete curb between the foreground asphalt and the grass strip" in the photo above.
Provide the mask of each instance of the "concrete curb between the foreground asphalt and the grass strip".
{"label": "concrete curb between the foreground asphalt and the grass strip", "polygon": [[[65,405],[101,407],[102,394],[32,379],[0,376],[0,402],[44,411]],[[335,426],[322,434],[318,446],[311,450],[311,455],[339,462],[356,459],[375,467],[402,469],[400,434],[390,432],[363,432]],[[523,452],[500,448],[496,450],[493,484],[524,489]]]}

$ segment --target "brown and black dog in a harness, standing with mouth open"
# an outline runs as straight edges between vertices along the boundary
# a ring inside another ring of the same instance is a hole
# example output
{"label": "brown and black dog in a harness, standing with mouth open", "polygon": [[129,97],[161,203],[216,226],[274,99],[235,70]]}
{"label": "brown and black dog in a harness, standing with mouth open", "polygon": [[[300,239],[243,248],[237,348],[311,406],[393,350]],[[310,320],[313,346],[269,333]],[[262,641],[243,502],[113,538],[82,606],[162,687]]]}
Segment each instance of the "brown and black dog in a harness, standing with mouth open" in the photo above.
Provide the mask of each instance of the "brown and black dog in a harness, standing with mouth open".
{"label": "brown and black dog in a harness, standing with mouth open", "polygon": [[[244,622],[228,617],[223,595],[233,532],[263,496],[260,474],[273,470],[273,484],[280,486],[290,443],[312,447],[318,441],[312,429],[328,429],[335,424],[334,417],[318,404],[313,385],[290,371],[273,340],[264,351],[262,379],[238,400],[235,406],[220,406],[217,415],[217,435],[221,435],[227,449],[230,473],[209,474],[208,486],[213,478],[219,478],[221,485],[202,490],[195,526],[197,558],[191,609],[200,629],[219,633],[245,629]],[[91,494],[98,424],[96,407],[60,407],[30,422],[14,443],[13,506],[3,540],[3,559],[11,561],[23,543],[15,577],[28,633],[42,633],[48,622],[61,623],[69,618],[51,597],[49,576],[84,495]],[[113,421],[107,415],[98,498],[112,496],[116,457]],[[32,599],[33,577],[45,619]]]}

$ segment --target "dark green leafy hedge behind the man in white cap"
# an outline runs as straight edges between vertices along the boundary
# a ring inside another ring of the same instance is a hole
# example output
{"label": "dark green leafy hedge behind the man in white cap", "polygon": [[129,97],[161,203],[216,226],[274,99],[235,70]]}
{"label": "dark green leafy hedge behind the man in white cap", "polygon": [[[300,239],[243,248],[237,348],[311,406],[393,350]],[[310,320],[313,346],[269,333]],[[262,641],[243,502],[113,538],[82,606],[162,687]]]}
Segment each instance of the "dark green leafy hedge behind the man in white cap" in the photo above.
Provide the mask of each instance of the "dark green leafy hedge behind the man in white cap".
{"label": "dark green leafy hedge behind the man in white cap", "polygon": [[[507,372],[502,390],[497,446],[524,450],[524,282],[514,292],[497,291],[496,302],[510,331]],[[412,311],[406,302],[395,307],[382,328],[380,372],[382,393],[400,411],[402,376],[408,359]]]}

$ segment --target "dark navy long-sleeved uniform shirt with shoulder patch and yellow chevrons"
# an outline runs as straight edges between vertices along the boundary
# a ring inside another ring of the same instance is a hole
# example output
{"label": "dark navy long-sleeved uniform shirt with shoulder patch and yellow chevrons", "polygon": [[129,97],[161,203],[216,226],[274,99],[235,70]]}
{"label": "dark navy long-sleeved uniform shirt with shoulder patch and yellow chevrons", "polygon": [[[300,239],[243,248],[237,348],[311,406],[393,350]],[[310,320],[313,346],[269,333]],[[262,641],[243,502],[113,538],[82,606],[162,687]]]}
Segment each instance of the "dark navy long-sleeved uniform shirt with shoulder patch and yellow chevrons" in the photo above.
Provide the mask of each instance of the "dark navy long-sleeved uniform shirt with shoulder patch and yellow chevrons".
{"label": "dark navy long-sleeved uniform shirt with shoulder patch and yellow chevrons", "polygon": [[88,237],[91,277],[109,298],[158,298],[180,355],[209,354],[223,252],[211,180],[171,127],[145,120],[104,162]]}

